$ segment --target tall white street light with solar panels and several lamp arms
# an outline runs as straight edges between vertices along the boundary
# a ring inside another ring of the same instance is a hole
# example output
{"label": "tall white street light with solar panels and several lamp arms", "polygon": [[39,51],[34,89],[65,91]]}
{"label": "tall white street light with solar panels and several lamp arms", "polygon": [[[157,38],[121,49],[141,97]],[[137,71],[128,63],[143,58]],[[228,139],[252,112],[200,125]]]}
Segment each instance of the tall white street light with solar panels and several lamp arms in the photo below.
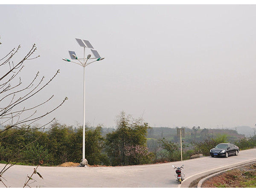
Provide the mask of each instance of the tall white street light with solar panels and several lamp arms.
{"label": "tall white street light with solar panels and several lamp arms", "polygon": [[[104,57],[100,57],[99,53],[93,48],[93,46],[90,44],[89,41],[86,40],[81,40],[81,39],[76,39],[76,41],[78,42],[78,44],[81,47],[84,47],[84,58],[83,61],[81,62],[82,59],[77,58],[76,53],[74,51],[69,51],[70,54],[70,58],[72,60],[77,60],[78,62],[74,62],[71,61],[67,58],[62,58],[64,61],[68,61],[68,62],[72,62],[72,63],[76,63],[79,64],[80,66],[82,66],[84,68],[84,98],[83,98],[83,153],[82,153],[82,162],[84,162],[84,160],[87,162],[87,160],[85,159],[85,67],[95,61],[101,61],[104,59]],[[87,59],[85,60],[85,48],[90,48],[91,52],[93,53],[93,55],[95,56],[95,58],[90,58],[91,55],[87,55]],[[92,60],[92,59],[96,59],[94,61],[90,61],[89,63],[87,63],[88,60]],[[82,164],[82,162],[80,163],[80,166],[85,166],[85,164]]]}

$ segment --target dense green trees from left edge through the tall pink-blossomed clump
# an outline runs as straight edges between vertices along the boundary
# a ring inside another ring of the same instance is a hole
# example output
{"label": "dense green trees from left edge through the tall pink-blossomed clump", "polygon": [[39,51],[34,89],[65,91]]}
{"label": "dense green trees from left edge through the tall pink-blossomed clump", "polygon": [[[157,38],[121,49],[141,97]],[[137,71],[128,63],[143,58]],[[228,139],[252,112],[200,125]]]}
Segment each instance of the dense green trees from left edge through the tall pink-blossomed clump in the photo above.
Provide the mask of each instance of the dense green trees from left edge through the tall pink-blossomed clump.
{"label": "dense green trees from left edge through the tall pink-blossomed clump", "polygon": [[[137,165],[151,163],[147,148],[148,124],[120,113],[117,129],[102,137],[102,127],[85,129],[85,154],[89,164]],[[6,128],[5,128],[6,129]],[[0,161],[44,165],[81,162],[82,128],[53,123],[49,129],[7,129],[0,133]]]}

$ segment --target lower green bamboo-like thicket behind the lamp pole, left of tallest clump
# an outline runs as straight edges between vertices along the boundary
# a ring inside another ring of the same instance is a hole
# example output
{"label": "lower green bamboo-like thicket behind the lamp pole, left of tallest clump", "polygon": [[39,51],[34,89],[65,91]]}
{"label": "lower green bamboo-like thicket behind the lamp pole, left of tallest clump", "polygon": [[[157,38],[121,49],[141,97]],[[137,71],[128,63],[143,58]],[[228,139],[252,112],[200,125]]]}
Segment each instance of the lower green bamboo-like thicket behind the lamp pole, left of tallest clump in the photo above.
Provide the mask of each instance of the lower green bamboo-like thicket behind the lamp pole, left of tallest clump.
{"label": "lower green bamboo-like thicket behind the lamp pole, left of tallest clump", "polygon": [[[101,127],[86,128],[85,154],[89,164],[108,162],[103,151]],[[23,162],[37,165],[60,165],[65,162],[80,163],[82,157],[82,128],[73,129],[54,123],[49,131],[8,129],[0,134],[0,161]]]}

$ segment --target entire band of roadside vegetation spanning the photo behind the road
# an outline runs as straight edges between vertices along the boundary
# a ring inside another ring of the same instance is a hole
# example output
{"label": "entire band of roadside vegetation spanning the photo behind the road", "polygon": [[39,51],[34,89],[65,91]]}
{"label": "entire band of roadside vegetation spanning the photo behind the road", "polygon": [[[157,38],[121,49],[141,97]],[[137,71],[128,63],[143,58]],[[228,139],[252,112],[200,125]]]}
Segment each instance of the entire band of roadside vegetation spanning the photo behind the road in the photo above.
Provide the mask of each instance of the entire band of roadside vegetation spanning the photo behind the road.
{"label": "entire band of roadside vegetation spanning the photo behind the road", "polygon": [[[195,133],[192,128],[186,128],[185,132],[183,160],[194,154],[209,156],[209,150],[218,143],[234,143],[240,150],[256,146],[256,136],[247,138],[234,130],[198,128]],[[181,156],[176,128],[151,128],[143,119],[134,119],[125,112],[117,117],[116,129],[86,127],[85,137],[85,154],[90,165],[163,163],[179,161]],[[58,166],[66,162],[80,163],[81,156],[82,127],[54,122],[44,131],[30,127],[29,130],[12,128],[0,133],[1,163],[37,165],[43,160],[43,166]]]}

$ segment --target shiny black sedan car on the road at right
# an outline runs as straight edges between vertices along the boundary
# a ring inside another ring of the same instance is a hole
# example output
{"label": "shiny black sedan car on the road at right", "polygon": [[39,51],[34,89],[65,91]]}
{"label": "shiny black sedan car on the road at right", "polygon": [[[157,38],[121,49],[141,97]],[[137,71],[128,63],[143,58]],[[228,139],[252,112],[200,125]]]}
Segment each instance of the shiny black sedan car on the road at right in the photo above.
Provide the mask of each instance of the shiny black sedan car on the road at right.
{"label": "shiny black sedan car on the road at right", "polygon": [[230,155],[238,155],[239,147],[232,143],[220,143],[210,150],[210,155],[228,157]]}

